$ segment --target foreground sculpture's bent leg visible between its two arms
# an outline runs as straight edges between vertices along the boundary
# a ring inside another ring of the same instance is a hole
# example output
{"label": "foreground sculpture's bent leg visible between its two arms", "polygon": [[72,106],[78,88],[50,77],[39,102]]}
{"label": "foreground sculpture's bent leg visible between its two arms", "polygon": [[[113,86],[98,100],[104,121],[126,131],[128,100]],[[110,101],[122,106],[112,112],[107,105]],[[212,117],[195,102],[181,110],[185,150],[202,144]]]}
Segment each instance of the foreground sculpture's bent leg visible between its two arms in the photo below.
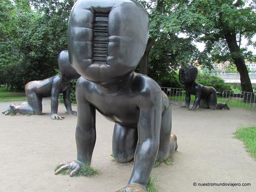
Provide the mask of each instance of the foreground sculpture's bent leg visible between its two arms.
{"label": "foreground sculpture's bent leg visible between its two arms", "polygon": [[116,161],[125,163],[134,159],[137,138],[137,129],[115,124],[112,137],[112,152]]}

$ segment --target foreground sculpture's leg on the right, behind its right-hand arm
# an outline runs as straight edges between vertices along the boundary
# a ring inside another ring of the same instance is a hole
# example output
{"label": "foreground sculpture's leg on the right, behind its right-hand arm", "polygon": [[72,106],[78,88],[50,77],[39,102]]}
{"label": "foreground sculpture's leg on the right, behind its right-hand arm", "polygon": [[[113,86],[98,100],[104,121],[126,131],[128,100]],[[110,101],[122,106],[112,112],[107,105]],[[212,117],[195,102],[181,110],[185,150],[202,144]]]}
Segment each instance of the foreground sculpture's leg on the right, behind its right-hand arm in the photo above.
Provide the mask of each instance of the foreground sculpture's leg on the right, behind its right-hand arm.
{"label": "foreground sculpture's leg on the right, behind its right-hand arm", "polygon": [[178,148],[177,137],[171,134],[171,106],[164,111],[161,122],[160,144],[156,159],[160,162],[167,159]]}

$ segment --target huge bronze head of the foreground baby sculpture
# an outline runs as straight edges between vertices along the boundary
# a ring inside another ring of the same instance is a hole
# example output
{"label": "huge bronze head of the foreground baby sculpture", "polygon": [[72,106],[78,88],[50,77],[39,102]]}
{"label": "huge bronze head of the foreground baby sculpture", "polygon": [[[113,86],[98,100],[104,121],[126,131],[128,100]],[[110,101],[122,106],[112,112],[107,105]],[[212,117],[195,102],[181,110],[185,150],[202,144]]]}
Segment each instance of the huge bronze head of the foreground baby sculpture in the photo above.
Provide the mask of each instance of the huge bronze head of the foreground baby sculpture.
{"label": "huge bronze head of the foreground baby sculpture", "polygon": [[114,82],[135,70],[149,34],[146,11],[135,0],[79,0],[68,24],[68,51],[89,81]]}

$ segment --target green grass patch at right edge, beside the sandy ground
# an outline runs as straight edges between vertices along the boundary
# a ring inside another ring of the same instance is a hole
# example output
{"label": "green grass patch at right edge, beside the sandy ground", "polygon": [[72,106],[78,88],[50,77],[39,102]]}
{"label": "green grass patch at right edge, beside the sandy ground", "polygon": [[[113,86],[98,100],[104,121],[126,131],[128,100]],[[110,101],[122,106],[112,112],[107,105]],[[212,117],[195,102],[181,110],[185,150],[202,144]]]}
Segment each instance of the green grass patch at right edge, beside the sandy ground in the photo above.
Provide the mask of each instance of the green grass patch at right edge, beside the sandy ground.
{"label": "green grass patch at right edge, beside the sandy ground", "polygon": [[242,140],[247,151],[256,159],[256,127],[238,129],[235,132],[235,138]]}

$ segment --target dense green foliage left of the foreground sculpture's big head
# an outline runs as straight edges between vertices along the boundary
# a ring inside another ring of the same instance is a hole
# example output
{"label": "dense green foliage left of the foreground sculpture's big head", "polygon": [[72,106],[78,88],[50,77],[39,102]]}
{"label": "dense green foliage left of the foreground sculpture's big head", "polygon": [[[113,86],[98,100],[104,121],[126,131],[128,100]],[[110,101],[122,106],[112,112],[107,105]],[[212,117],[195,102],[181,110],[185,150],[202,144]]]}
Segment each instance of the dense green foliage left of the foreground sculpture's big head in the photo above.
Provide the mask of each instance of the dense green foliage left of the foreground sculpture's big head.
{"label": "dense green foliage left of the foreground sculpture's big head", "polygon": [[1,83],[21,91],[29,81],[55,75],[58,53],[67,49],[67,21],[73,3],[3,0]]}

